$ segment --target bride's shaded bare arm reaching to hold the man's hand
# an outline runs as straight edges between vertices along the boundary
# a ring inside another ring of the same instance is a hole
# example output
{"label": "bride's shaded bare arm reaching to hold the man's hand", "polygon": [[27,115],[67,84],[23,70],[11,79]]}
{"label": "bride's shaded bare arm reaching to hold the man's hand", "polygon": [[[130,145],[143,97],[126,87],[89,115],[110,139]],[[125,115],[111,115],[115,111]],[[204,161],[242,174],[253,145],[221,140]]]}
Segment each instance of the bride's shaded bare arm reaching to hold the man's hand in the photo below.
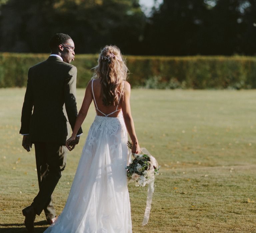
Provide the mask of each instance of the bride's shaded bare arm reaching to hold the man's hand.
{"label": "bride's shaded bare arm reaching to hold the man's hand", "polygon": [[[72,135],[71,137],[66,141],[66,146],[68,147],[68,142],[69,141],[73,141],[76,139],[76,135],[77,135],[77,132],[79,130],[79,128],[81,127],[87,113],[88,113],[88,109],[92,103],[92,93],[91,93],[91,82],[90,81],[86,87],[86,91],[85,91],[85,95],[84,95],[84,100],[83,100],[83,103],[82,103],[82,106],[81,106],[81,109],[78,113],[78,116],[76,118],[76,122],[75,122],[75,126],[74,126],[74,129],[73,129],[73,132],[72,132]],[[68,147],[69,149],[69,147]]]}

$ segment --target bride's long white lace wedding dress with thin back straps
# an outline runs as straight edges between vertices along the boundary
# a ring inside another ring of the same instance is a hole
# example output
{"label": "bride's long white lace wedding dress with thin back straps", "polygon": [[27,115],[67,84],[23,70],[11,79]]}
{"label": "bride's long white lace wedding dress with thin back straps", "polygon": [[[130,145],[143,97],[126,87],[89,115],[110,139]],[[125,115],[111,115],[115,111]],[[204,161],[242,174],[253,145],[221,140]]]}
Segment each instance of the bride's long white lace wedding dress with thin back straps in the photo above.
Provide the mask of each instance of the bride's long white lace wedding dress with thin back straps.
{"label": "bride's long white lace wedding dress with thin back straps", "polygon": [[[95,105],[98,109],[96,102]],[[96,116],[67,203],[45,233],[132,232],[125,169],[127,155],[122,111],[117,117]]]}

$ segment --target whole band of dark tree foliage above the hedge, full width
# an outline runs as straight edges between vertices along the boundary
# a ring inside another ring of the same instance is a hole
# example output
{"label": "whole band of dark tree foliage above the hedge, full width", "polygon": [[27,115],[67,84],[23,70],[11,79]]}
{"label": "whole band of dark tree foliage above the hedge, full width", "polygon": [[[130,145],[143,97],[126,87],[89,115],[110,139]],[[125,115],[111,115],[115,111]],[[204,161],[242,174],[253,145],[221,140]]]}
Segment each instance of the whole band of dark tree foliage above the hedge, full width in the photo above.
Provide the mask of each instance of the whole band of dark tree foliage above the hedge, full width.
{"label": "whole band of dark tree foliage above the hedge, full width", "polygon": [[0,51],[49,52],[57,32],[78,53],[114,44],[124,54],[254,55],[255,0],[163,0],[146,17],[139,0],[0,0]]}

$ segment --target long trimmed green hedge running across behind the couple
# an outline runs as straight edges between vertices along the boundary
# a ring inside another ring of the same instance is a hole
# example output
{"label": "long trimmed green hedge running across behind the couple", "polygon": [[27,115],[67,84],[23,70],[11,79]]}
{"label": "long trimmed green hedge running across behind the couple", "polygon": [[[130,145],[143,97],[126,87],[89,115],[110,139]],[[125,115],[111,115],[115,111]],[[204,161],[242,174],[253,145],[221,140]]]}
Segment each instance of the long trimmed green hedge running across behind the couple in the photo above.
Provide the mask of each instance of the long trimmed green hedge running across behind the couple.
{"label": "long trimmed green hedge running across behind the couple", "polygon": [[[0,87],[24,87],[29,67],[49,54],[0,53]],[[98,55],[76,55],[77,87],[92,77]],[[152,57],[127,56],[132,87],[145,88],[256,88],[256,58],[244,56]]]}

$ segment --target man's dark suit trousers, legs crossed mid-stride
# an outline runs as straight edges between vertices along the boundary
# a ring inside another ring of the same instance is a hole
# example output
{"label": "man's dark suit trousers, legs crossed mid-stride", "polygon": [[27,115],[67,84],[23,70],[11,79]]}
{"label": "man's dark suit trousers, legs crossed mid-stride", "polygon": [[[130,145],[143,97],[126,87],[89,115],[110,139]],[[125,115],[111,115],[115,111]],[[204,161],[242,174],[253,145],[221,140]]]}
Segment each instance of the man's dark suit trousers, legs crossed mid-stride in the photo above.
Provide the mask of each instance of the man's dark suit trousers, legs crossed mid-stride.
{"label": "man's dark suit trousers, legs crossed mid-stride", "polygon": [[44,210],[47,220],[56,216],[52,193],[66,166],[66,146],[58,143],[35,142],[36,168],[39,192],[32,205],[37,215]]}

